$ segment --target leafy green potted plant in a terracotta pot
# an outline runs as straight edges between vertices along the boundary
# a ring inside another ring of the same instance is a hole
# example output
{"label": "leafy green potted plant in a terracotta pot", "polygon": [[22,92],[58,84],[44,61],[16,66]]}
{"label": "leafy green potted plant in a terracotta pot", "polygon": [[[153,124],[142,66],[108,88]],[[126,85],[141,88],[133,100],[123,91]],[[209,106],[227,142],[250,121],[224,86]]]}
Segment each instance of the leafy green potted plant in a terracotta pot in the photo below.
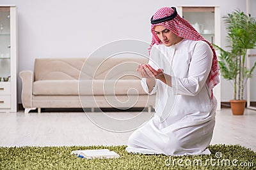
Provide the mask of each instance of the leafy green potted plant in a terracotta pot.
{"label": "leafy green potted plant in a terracotta pot", "polygon": [[218,57],[221,75],[234,85],[234,98],[230,100],[232,113],[243,115],[246,103],[243,99],[244,86],[248,78],[252,77],[256,66],[256,62],[251,69],[244,66],[247,50],[256,46],[256,20],[240,10],[228,13],[223,18],[227,29],[228,50],[217,45],[214,47],[220,51]]}

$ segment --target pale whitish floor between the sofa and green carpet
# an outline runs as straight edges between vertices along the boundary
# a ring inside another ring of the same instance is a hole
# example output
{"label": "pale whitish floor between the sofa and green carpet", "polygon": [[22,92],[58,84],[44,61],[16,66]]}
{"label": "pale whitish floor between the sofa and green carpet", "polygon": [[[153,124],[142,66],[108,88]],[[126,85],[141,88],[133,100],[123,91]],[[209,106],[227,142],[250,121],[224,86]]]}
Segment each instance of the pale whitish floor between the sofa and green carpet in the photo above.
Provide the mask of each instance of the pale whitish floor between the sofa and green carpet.
{"label": "pale whitish floor between the sofa and green carpet", "polygon": [[[150,116],[147,112],[143,114]],[[108,115],[122,119],[134,117],[138,112]],[[136,120],[141,122],[143,118]],[[233,116],[230,109],[217,111],[211,144],[239,144],[256,151],[255,122],[253,110],[246,110],[243,116]],[[113,123],[106,125],[118,128]],[[0,146],[126,145],[131,133],[106,131],[93,124],[84,113],[0,113]]]}

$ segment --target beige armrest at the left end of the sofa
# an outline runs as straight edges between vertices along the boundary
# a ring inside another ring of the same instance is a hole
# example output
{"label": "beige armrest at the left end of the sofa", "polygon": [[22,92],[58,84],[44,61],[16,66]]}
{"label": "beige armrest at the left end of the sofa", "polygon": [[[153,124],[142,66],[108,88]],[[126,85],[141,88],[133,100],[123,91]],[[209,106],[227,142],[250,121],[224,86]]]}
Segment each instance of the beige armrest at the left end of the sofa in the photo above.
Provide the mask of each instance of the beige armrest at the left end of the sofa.
{"label": "beige armrest at the left end of the sofa", "polygon": [[33,71],[20,71],[22,80],[21,101],[23,108],[32,108],[32,87],[34,81]]}

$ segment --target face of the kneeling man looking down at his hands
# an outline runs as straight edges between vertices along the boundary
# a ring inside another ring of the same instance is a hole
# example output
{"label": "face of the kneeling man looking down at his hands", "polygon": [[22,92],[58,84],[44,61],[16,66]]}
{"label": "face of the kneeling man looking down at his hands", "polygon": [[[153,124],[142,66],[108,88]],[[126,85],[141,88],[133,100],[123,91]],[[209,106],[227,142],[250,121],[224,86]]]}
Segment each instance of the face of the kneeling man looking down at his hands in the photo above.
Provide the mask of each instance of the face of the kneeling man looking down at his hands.
{"label": "face of the kneeling man looking down at his hands", "polygon": [[154,29],[158,38],[162,41],[162,43],[165,46],[172,46],[172,45],[175,45],[176,43],[179,43],[180,38],[175,34],[173,34],[173,32],[170,31],[169,29],[166,29],[165,27],[163,27],[162,25],[156,25]]}

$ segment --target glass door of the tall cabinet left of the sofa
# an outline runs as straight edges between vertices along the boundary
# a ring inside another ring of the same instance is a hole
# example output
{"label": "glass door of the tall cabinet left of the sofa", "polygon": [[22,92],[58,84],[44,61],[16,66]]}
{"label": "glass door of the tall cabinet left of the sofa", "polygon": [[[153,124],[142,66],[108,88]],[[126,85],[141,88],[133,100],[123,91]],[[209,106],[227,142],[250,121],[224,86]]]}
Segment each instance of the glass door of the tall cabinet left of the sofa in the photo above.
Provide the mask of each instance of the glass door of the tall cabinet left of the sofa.
{"label": "glass door of the tall cabinet left of the sofa", "polygon": [[0,80],[10,80],[10,7],[0,7]]}

